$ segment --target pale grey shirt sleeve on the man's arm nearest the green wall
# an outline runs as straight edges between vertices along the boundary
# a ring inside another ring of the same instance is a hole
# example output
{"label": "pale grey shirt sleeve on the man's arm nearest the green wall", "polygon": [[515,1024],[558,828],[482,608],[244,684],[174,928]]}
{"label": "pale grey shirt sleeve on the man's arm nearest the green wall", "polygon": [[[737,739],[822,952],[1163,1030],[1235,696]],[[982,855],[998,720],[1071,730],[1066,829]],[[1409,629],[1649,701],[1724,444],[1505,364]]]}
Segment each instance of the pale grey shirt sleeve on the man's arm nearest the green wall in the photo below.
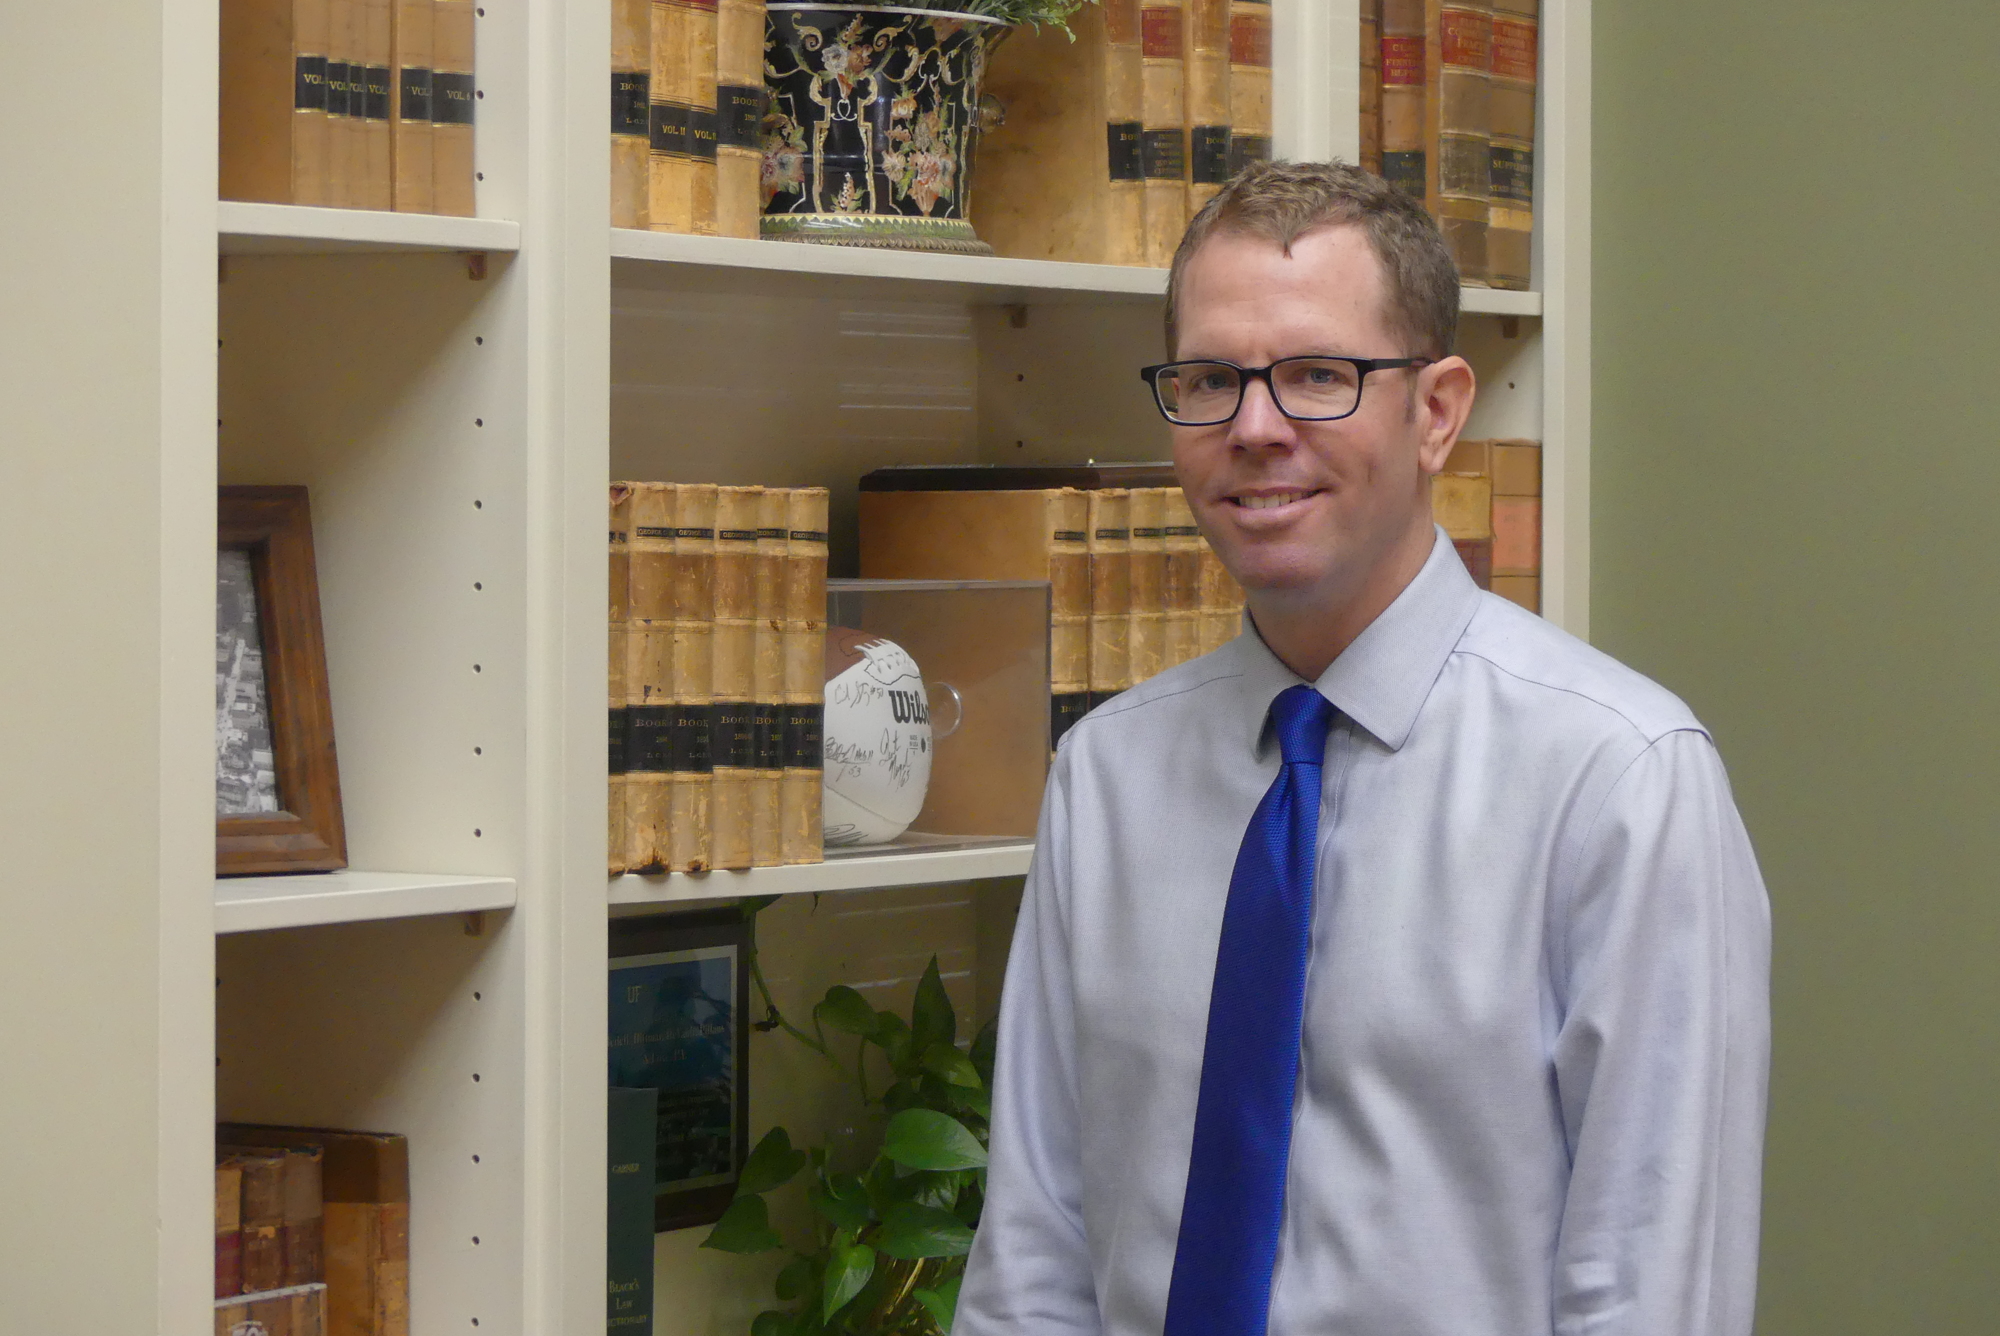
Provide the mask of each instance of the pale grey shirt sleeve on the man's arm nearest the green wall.
{"label": "pale grey shirt sleeve on the man's arm nearest the green wall", "polygon": [[1552,932],[1556,1336],[1748,1336],[1770,906],[1714,744],[1688,730],[1642,752],[1572,868]]}

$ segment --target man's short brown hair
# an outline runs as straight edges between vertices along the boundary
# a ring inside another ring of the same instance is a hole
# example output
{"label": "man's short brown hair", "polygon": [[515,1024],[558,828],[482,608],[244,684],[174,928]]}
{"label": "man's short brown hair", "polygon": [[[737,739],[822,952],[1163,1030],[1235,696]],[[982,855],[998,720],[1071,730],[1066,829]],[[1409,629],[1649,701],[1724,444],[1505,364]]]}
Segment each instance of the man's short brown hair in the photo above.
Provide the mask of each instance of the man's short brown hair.
{"label": "man's short brown hair", "polygon": [[1166,356],[1178,356],[1174,312],[1182,276],[1218,232],[1260,236],[1292,254],[1320,228],[1358,226],[1382,262],[1382,320],[1400,348],[1370,356],[1448,358],[1458,338],[1458,268],[1424,206],[1374,172],[1346,162],[1260,162],[1230,180],[1188,224],[1166,280]]}

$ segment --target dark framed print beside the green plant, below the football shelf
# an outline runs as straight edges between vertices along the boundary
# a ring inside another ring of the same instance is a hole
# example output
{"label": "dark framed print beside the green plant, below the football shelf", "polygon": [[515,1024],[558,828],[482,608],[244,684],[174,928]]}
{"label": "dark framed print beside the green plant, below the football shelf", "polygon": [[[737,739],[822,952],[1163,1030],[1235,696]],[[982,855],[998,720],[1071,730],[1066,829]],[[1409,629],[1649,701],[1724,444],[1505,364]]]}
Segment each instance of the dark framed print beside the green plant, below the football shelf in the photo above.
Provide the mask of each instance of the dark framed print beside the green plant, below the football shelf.
{"label": "dark framed print beside the green plant, below the football shelf", "polygon": [[610,1084],[660,1092],[654,1230],[714,1224],[750,1152],[750,978],[740,910],[614,918]]}

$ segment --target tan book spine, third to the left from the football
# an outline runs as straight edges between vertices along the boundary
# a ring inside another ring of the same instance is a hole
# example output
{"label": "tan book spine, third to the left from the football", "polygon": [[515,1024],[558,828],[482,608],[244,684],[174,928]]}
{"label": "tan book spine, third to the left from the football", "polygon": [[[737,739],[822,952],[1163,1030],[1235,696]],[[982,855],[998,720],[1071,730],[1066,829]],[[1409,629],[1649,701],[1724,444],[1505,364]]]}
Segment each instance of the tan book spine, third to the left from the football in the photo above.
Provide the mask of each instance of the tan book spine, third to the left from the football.
{"label": "tan book spine, third to the left from the football", "polygon": [[710,866],[750,866],[750,774],[756,770],[756,528],[762,488],[716,490],[716,630],[708,746]]}

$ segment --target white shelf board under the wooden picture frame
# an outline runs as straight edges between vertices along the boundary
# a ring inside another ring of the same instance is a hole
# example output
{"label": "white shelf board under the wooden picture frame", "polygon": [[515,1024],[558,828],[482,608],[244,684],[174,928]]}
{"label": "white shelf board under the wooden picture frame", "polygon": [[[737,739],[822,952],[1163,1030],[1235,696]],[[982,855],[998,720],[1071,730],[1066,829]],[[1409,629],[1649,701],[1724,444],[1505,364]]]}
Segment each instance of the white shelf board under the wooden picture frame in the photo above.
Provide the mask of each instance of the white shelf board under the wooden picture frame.
{"label": "white shelf board under the wooden picture frame", "polygon": [[216,878],[216,934],[510,910],[510,876],[308,872]]}

